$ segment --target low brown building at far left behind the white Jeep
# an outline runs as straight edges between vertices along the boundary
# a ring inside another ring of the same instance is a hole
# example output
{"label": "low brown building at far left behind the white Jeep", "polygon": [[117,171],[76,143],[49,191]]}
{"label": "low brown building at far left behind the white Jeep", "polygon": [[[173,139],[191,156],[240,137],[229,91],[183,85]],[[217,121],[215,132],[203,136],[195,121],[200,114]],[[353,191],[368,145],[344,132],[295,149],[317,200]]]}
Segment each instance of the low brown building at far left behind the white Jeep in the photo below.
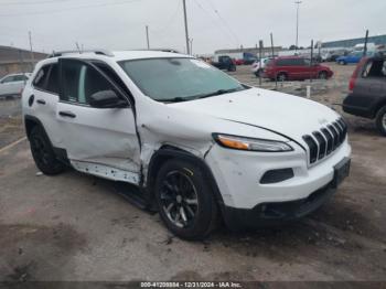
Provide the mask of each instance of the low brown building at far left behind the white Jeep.
{"label": "low brown building at far left behind the white Jeep", "polygon": [[32,72],[36,62],[47,56],[45,53],[0,45],[0,77],[10,73]]}

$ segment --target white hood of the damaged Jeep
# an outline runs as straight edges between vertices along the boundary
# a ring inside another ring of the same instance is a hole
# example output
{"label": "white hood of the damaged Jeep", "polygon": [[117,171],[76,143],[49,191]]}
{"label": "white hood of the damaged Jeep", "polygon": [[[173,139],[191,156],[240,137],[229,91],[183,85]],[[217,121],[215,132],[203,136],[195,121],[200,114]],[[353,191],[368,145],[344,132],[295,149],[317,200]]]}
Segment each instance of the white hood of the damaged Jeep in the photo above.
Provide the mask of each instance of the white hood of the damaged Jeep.
{"label": "white hood of the damaged Jeep", "polygon": [[193,111],[265,128],[299,143],[304,143],[302,136],[312,133],[340,117],[334,110],[319,103],[260,88],[171,106],[186,113]]}

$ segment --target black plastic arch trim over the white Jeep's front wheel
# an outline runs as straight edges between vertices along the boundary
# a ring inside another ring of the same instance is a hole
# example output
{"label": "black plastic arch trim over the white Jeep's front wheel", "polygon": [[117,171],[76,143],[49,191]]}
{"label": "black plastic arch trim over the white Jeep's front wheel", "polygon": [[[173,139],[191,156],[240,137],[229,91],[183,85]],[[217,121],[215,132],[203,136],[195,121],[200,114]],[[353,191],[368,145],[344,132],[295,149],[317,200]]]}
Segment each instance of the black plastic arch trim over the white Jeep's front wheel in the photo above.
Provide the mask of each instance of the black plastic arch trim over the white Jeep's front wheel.
{"label": "black plastic arch trim over the white Jeep's front wheel", "polygon": [[219,204],[222,207],[222,205],[224,204],[223,196],[219,192],[217,182],[212,173],[212,170],[206,164],[206,162],[203,159],[194,156],[193,153],[173,146],[162,146],[152,154],[148,165],[147,182],[144,184],[148,193],[150,193],[153,196],[153,188],[156,184],[157,172],[168,160],[171,159],[187,161],[202,169],[205,174],[205,179],[210,182],[210,186],[214,193],[214,197],[217,204]]}

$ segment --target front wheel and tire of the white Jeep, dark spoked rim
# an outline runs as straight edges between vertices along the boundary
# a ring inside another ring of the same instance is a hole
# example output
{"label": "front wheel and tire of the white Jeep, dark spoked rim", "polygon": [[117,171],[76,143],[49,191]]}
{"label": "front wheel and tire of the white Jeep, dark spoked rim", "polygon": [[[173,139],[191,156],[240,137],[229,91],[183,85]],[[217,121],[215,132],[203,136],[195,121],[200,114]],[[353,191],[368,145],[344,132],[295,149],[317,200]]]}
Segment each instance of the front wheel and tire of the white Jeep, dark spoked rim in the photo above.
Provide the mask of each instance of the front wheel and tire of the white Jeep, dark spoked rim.
{"label": "front wheel and tire of the white Jeep, dark spoked rim", "polygon": [[205,179],[199,167],[173,159],[157,175],[154,195],[159,214],[180,238],[204,239],[217,224],[217,205]]}

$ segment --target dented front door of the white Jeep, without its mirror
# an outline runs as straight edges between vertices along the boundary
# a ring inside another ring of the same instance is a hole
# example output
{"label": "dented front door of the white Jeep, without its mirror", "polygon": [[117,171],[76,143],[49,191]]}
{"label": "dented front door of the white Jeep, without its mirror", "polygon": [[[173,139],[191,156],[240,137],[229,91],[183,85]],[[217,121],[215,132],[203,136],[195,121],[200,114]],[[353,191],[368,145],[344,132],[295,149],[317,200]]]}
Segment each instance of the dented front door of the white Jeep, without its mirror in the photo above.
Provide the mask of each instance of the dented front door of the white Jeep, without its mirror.
{"label": "dented front door of the white Jeep, without its mirror", "polygon": [[[62,58],[60,69],[56,118],[63,147],[74,168],[111,180],[138,183],[140,146],[128,98],[92,63]],[[104,90],[116,92],[128,106],[92,107],[90,96]]]}

